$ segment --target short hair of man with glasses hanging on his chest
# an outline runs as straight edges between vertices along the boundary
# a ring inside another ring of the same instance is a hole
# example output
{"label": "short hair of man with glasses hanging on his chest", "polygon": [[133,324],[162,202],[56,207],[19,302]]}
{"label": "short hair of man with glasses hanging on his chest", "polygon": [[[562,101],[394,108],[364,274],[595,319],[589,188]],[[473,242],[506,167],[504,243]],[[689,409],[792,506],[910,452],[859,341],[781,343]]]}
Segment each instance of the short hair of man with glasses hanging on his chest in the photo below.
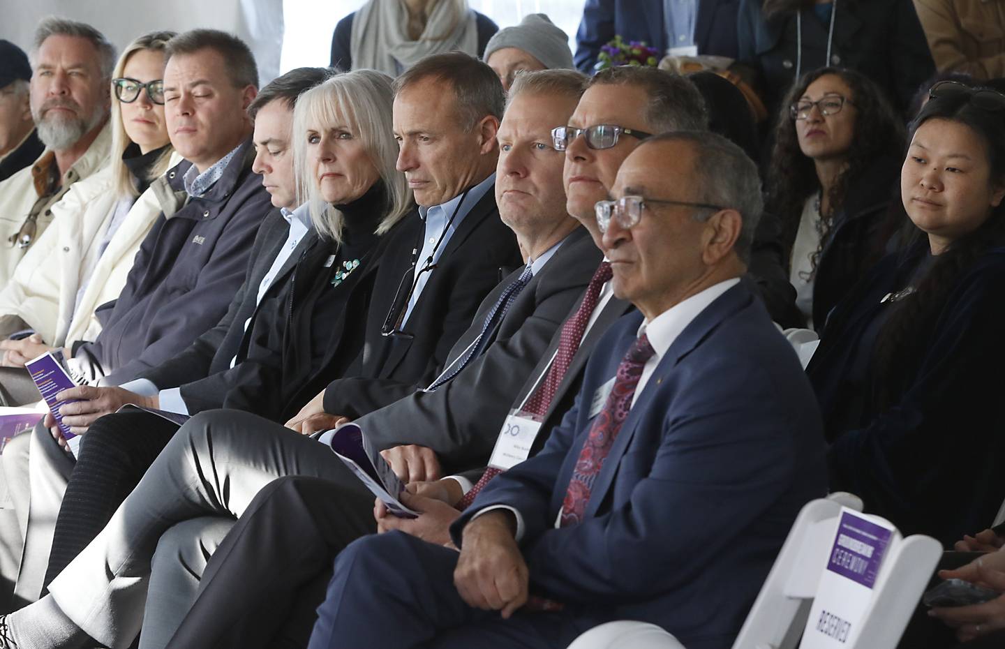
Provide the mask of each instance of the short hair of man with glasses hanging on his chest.
{"label": "short hair of man with glasses hanging on his chest", "polygon": [[426,79],[443,81],[453,88],[464,131],[470,132],[487,116],[502,119],[506,109],[502,81],[492,68],[470,54],[447,52],[426,56],[394,79],[395,96]]}

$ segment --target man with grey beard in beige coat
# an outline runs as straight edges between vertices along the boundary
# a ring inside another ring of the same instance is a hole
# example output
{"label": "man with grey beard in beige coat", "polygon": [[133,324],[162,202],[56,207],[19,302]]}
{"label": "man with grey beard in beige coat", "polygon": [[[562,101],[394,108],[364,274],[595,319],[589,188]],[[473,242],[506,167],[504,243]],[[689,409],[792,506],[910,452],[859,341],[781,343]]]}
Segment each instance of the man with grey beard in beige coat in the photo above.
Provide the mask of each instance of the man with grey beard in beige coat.
{"label": "man with grey beard in beige coat", "polygon": [[31,116],[45,151],[0,183],[0,285],[52,221],[70,185],[108,163],[115,46],[90,25],[45,18],[31,50]]}

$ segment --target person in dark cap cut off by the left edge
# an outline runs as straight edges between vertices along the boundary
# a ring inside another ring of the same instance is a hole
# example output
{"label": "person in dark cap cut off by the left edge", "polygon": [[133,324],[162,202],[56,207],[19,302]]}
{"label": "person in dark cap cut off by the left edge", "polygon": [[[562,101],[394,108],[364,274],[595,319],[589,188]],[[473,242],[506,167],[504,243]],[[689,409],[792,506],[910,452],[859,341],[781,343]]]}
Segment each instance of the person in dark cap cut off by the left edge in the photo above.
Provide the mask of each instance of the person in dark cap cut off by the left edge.
{"label": "person in dark cap cut off by the left edge", "polygon": [[0,39],[0,181],[33,163],[45,148],[31,119],[30,80],[27,54]]}

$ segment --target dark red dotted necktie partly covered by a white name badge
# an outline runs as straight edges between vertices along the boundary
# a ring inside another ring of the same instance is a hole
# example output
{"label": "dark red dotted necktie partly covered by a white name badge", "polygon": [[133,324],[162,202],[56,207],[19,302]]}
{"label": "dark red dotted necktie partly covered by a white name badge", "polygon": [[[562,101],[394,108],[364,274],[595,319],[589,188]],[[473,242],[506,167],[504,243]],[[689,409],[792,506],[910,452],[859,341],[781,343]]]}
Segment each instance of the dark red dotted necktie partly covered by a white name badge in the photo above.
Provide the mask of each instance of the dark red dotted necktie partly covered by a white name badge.
{"label": "dark red dotted necktie partly covered by a white name badge", "polygon": [[[562,326],[562,335],[559,338],[559,349],[555,355],[555,360],[552,361],[551,367],[548,368],[548,374],[545,376],[544,381],[538,385],[534,394],[527,400],[524,412],[538,415],[539,417],[544,417],[547,414],[548,408],[552,405],[552,400],[555,399],[555,393],[562,383],[562,379],[565,378],[566,372],[569,371],[569,366],[572,364],[572,357],[576,356],[576,352],[579,351],[579,346],[583,342],[583,336],[586,334],[586,326],[590,322],[590,316],[593,315],[593,310],[600,302],[600,289],[603,288],[604,283],[610,280],[611,274],[610,262],[601,261],[597,267],[597,271],[593,273],[593,278],[590,279],[590,283],[586,286],[586,294],[583,296],[583,301],[580,303],[579,308]],[[459,509],[466,509],[474,500],[474,496],[481,492],[481,489],[484,488],[488,481],[501,472],[500,469],[493,466],[486,468],[485,472],[481,474],[481,478],[457,503],[457,507]]]}

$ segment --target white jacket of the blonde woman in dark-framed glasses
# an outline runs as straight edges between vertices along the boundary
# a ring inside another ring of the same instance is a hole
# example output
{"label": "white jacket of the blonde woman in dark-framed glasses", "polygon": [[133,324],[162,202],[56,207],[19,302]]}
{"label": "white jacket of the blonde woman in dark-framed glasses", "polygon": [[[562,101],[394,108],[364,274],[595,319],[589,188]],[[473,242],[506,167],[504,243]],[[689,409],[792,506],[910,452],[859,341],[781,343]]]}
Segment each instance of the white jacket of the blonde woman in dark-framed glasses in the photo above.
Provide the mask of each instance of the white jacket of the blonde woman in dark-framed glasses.
{"label": "white jacket of the blonde woman in dark-framed glasses", "polygon": [[[180,161],[175,155],[171,166]],[[119,296],[140,244],[161,213],[149,189],[136,200],[97,259],[74,312],[76,293],[86,279],[83,273],[93,265],[120,200],[110,167],[74,183],[52,206],[51,226],[0,291],[0,316],[19,316],[52,347],[94,340],[100,332],[94,309]]]}

